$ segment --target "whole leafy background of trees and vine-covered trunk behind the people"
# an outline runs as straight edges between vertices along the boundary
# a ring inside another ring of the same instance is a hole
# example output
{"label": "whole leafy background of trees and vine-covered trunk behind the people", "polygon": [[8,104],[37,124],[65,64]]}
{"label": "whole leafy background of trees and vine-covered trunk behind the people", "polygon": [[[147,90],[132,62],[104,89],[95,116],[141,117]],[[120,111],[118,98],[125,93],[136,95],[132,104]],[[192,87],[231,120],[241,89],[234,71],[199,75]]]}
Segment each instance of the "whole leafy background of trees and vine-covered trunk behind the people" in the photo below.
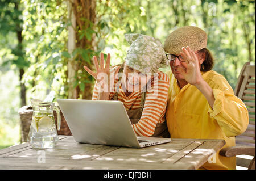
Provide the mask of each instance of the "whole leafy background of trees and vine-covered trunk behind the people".
{"label": "whole leafy background of trees and vine-covered trunk behind the people", "polygon": [[255,64],[255,1],[0,0],[0,148],[19,142],[18,110],[31,98],[91,99],[82,66],[100,52],[123,62],[125,33],[163,43],[186,25],[207,32],[214,70],[233,88],[242,65]]}

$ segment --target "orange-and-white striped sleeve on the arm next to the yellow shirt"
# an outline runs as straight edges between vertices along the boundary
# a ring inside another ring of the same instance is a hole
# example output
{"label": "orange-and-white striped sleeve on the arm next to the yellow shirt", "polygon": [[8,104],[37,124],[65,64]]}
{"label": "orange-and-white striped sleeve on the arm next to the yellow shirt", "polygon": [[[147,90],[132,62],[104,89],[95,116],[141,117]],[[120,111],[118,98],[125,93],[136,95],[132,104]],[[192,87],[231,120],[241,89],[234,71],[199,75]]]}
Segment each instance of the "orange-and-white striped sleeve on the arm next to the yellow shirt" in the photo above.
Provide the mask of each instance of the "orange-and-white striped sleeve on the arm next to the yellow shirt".
{"label": "orange-and-white striped sleeve on the arm next to the yellow shirt", "polygon": [[154,86],[146,93],[146,100],[141,119],[133,124],[137,136],[150,137],[155,132],[156,124],[164,121],[168,99],[169,78],[167,74],[159,72],[158,79],[154,79]]}

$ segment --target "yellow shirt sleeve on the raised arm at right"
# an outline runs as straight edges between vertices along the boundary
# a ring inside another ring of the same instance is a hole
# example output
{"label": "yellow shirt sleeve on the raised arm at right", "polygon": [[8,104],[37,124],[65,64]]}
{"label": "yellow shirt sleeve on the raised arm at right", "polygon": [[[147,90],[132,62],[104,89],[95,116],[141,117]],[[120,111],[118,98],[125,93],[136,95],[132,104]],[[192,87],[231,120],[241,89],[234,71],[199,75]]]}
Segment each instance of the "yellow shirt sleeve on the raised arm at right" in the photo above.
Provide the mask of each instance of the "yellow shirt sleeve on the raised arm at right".
{"label": "yellow shirt sleeve on the raised arm at right", "polygon": [[245,104],[234,95],[232,87],[224,77],[212,79],[215,102],[213,109],[208,104],[208,114],[213,117],[226,137],[242,134],[249,124],[249,114]]}

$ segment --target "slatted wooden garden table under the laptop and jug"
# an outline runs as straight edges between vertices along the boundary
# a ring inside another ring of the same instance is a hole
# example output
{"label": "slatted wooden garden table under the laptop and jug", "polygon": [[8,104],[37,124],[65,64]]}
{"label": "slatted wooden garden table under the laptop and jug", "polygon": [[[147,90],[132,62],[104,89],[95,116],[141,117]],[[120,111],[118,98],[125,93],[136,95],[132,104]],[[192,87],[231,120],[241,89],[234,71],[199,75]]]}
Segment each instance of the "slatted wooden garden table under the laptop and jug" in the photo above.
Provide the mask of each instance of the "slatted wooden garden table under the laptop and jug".
{"label": "slatted wooden garden table under the laptop and jug", "polygon": [[79,144],[59,136],[53,149],[25,142],[0,150],[0,169],[198,169],[225,145],[224,140],[172,139],[147,148]]}

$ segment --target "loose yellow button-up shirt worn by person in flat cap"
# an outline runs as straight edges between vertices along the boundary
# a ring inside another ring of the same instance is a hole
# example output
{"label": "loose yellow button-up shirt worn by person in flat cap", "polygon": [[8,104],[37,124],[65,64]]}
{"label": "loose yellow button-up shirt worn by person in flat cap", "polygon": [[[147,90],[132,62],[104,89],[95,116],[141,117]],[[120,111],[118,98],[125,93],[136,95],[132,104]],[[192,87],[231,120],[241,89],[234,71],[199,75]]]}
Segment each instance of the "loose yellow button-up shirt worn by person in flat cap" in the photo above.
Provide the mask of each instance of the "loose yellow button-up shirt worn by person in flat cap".
{"label": "loose yellow button-up shirt worn by person in flat cap", "polygon": [[[228,81],[213,70],[202,73],[213,89],[212,109],[195,86],[188,83],[180,89],[171,70],[167,74],[170,88],[166,120],[171,138],[221,139],[226,141],[223,148],[236,145],[234,136],[246,130],[249,116]],[[218,152],[216,163],[206,162],[200,169],[236,169],[236,157],[222,157]]]}

